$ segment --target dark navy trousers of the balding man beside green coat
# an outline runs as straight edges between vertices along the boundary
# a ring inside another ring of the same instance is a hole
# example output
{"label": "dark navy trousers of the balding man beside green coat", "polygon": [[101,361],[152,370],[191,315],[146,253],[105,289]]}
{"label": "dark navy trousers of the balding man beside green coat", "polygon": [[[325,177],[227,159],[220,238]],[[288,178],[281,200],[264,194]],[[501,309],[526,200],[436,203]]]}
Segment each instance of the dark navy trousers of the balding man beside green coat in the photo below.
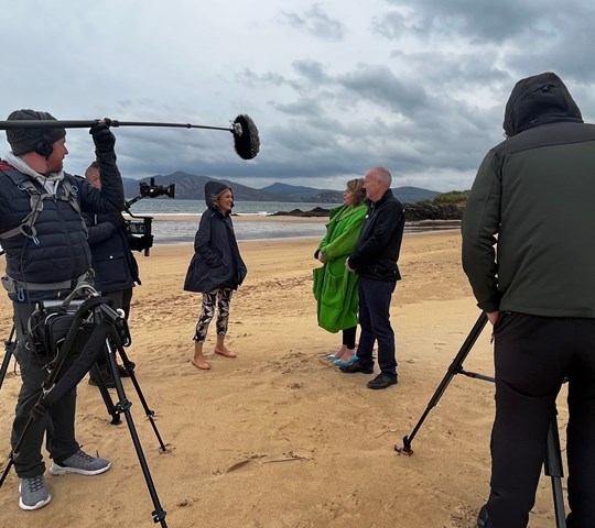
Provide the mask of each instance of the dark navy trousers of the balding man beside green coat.
{"label": "dark navy trousers of the balding man beside green coat", "polygon": [[359,277],[359,326],[361,332],[357,346],[357,359],[364,367],[374,366],[372,350],[378,341],[378,365],[380,371],[394,376],[397,358],[394,332],[390,326],[390,299],[397,283]]}

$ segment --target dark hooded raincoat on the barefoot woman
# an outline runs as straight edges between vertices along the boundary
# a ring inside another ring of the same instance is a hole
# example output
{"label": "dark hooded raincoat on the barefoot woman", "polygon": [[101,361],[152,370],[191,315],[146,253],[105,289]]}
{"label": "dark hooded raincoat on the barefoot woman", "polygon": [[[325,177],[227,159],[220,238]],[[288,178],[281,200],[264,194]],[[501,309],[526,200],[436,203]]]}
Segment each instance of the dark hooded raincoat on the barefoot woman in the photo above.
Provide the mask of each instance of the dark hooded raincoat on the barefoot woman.
{"label": "dark hooded raincoat on the barefoot woman", "polygon": [[186,292],[208,293],[221,287],[237,289],[246,277],[247,268],[239,253],[231,217],[223,215],[210,202],[213,196],[228,188],[218,182],[205,185],[208,209],[203,212],[194,238],[194,256],[184,282]]}

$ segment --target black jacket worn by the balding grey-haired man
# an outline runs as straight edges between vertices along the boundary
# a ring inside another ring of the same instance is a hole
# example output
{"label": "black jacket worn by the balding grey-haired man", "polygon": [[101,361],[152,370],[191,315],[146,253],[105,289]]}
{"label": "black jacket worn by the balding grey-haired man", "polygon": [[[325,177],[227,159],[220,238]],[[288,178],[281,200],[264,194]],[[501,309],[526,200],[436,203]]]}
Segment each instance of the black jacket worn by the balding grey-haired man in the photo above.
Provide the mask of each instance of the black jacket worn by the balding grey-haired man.
{"label": "black jacket worn by the balding grey-haired man", "polygon": [[370,202],[357,246],[349,256],[349,266],[361,277],[399,280],[397,261],[403,240],[404,210],[389,189]]}

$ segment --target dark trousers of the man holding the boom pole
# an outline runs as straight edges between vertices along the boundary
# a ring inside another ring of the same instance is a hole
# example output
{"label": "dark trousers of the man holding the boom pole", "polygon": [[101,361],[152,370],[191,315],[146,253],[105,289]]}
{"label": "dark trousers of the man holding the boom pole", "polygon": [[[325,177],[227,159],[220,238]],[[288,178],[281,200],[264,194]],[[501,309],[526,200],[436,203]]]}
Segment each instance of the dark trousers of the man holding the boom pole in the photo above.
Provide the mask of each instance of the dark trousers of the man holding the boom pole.
{"label": "dark trousers of the man holding the boom pole", "polygon": [[[11,432],[13,450],[29,421],[31,409],[41,395],[42,384],[47,380],[48,373],[44,366],[51,360],[43,351],[32,351],[25,343],[26,323],[34,309],[35,306],[28,302],[13,302],[18,340],[14,356],[21,370],[22,383]],[[71,365],[72,361],[66,360],[63,371],[66,372]],[[75,440],[75,411],[76,388],[73,388],[40,420],[33,422],[23,438],[18,457],[14,458],[14,470],[21,479],[37,476],[45,471],[41,453],[44,433],[46,449],[52,459],[67,459],[78,451],[79,446]]]}

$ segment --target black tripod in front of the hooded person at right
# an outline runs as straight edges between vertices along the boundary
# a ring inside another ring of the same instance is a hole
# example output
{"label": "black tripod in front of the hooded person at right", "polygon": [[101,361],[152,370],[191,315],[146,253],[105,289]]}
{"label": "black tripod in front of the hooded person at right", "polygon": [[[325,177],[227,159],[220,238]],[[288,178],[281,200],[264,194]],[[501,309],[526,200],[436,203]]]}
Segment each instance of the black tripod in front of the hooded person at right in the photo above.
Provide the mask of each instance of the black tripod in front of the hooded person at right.
{"label": "black tripod in front of the hooded person at right", "polygon": [[[495,382],[494,377],[485,376],[476,372],[465,371],[465,369],[463,369],[463,362],[465,361],[468,353],[470,352],[470,349],[477,341],[477,338],[484,330],[484,327],[486,326],[487,320],[488,319],[485,312],[482,312],[482,315],[479,316],[479,318],[473,326],[469,334],[467,336],[467,339],[465,339],[455,359],[448,366],[448,371],[446,372],[446,375],[444,376],[439,387],[436,388],[436,392],[430,398],[428,407],[425,408],[420,420],[418,421],[418,424],[415,425],[411,433],[403,437],[403,447],[399,448],[394,446],[394,451],[397,451],[399,454],[407,454],[407,455],[413,454],[413,450],[411,449],[411,442],[413,441],[413,438],[420,430],[423,421],[430,414],[430,410],[432,410],[432,408],[434,408],[437,405],[440,398],[444,394],[444,391],[446,391],[446,387],[448,386],[448,384],[451,383],[451,381],[456,374],[463,374],[465,376],[475,377],[477,380],[484,380],[486,382],[493,382],[493,383]],[[552,493],[553,493],[556,527],[566,528],[566,516],[564,513],[564,497],[562,494],[562,481],[561,481],[561,479],[564,476],[564,471],[562,468],[562,454],[560,451],[560,437],[558,435],[556,414],[558,411],[554,409],[552,419],[550,421],[550,428],[548,430],[548,443],[547,443],[547,449],[545,449],[545,460],[543,461],[543,472],[545,473],[545,475],[550,476],[552,481]]]}

